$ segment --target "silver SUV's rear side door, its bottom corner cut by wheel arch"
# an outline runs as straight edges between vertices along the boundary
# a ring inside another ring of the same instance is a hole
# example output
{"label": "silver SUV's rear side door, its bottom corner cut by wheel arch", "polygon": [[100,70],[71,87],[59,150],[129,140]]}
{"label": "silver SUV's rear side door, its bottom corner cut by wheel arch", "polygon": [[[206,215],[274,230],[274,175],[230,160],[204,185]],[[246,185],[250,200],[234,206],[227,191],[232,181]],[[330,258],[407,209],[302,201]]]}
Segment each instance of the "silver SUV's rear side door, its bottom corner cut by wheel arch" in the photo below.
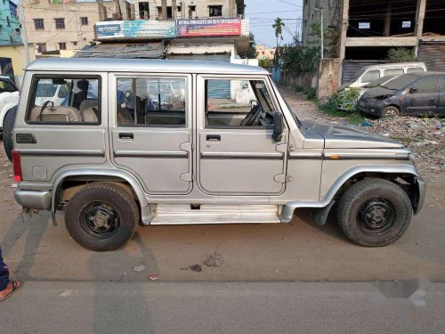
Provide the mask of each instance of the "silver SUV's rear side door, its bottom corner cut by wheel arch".
{"label": "silver SUV's rear side door, its bottom corner cut by wheel arch", "polygon": [[110,74],[111,156],[150,194],[191,191],[191,76]]}

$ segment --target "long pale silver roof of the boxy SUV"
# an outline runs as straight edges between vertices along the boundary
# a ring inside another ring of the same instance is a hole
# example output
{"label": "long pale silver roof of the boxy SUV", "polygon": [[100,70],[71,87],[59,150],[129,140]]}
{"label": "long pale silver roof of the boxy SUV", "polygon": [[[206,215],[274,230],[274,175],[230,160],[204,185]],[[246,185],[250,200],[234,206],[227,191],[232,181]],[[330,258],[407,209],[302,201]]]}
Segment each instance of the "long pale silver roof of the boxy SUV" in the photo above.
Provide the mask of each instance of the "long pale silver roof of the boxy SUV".
{"label": "long pale silver roof of the boxy SUV", "polygon": [[174,72],[268,74],[257,66],[215,61],[170,61],[122,58],[44,58],[31,62],[26,70],[63,70],[86,72]]}

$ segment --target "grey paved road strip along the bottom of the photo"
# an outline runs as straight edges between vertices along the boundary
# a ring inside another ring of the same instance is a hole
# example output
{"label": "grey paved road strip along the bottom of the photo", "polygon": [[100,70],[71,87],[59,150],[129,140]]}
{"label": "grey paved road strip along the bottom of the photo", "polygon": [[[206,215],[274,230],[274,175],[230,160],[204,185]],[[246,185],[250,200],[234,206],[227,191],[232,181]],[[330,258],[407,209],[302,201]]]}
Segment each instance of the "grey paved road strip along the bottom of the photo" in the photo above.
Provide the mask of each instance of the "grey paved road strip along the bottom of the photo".
{"label": "grey paved road strip along the bottom of the photo", "polygon": [[367,283],[28,282],[2,333],[443,333],[445,284],[426,305],[375,305]]}

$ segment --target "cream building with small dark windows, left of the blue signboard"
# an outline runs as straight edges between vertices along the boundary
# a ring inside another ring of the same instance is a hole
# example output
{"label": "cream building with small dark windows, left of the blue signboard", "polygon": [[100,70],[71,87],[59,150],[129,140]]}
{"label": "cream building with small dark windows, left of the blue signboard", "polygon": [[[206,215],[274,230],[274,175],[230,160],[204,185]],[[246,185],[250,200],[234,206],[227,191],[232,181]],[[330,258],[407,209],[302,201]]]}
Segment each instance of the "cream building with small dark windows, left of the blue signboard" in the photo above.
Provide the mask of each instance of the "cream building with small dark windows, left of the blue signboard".
{"label": "cream building with small dark windows, left of the blue signboard", "polygon": [[131,17],[130,4],[122,3],[121,9],[117,0],[28,0],[28,43],[38,56],[80,50],[93,42],[96,22]]}

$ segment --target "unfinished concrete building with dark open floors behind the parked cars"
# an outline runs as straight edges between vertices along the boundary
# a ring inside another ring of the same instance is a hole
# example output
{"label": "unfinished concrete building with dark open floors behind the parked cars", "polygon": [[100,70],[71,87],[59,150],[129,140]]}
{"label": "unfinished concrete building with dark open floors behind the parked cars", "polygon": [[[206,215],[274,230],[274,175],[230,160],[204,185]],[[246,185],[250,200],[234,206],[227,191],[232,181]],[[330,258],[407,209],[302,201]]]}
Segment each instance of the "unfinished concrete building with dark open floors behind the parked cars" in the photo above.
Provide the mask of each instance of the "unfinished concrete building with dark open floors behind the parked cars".
{"label": "unfinished concrete building with dark open floors behind the parked cars", "polygon": [[361,67],[386,61],[394,47],[412,50],[429,70],[445,71],[443,0],[304,0],[304,46],[320,45],[313,28],[320,26],[321,8],[325,55],[340,58],[343,82]]}

